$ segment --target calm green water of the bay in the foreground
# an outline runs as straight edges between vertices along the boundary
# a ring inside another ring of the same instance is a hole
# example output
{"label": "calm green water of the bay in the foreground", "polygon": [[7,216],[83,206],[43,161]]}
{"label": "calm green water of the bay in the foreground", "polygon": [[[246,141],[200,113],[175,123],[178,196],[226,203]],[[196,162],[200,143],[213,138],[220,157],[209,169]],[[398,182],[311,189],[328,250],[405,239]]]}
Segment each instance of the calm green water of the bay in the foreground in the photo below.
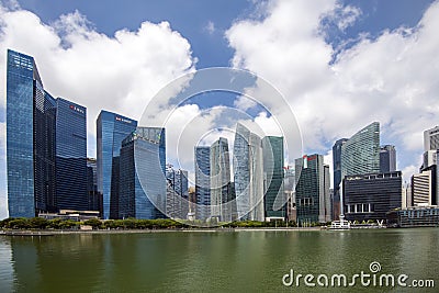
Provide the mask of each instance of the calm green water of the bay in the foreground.
{"label": "calm green water of the bay in the foreground", "polygon": [[438,292],[282,284],[291,269],[352,275],[378,261],[438,288],[438,228],[0,236],[0,292]]}

